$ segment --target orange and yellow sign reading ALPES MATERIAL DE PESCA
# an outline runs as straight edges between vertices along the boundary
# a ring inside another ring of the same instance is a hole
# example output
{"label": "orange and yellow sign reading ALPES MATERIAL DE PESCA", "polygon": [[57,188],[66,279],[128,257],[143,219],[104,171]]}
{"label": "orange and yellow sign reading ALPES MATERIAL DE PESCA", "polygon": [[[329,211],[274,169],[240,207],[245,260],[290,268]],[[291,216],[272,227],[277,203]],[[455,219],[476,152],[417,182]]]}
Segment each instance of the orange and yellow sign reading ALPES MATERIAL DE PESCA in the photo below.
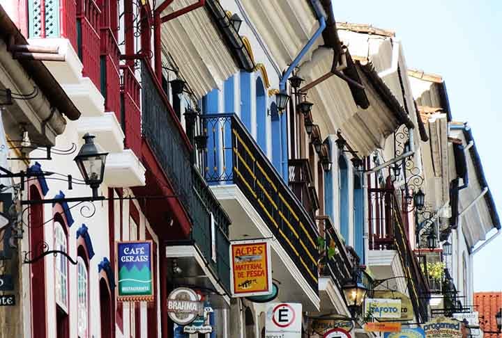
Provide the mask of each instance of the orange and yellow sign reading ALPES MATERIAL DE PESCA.
{"label": "orange and yellow sign reading ALPES MATERIAL DE PESCA", "polygon": [[231,293],[234,297],[272,293],[269,241],[233,241],[230,245]]}

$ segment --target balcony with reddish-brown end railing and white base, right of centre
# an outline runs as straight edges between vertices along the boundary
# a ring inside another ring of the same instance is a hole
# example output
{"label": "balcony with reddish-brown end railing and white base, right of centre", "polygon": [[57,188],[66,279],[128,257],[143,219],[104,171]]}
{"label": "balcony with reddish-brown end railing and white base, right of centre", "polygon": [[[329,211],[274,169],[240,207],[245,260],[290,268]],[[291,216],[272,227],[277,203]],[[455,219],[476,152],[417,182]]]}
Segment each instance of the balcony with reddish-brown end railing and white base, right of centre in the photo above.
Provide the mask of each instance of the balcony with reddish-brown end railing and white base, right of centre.
{"label": "balcony with reddish-brown end railing and white base, right of centre", "polygon": [[427,321],[429,287],[418,259],[411,250],[401,218],[399,202],[392,189],[368,189],[370,227],[369,265],[379,279],[405,276],[393,281],[409,293],[416,318]]}

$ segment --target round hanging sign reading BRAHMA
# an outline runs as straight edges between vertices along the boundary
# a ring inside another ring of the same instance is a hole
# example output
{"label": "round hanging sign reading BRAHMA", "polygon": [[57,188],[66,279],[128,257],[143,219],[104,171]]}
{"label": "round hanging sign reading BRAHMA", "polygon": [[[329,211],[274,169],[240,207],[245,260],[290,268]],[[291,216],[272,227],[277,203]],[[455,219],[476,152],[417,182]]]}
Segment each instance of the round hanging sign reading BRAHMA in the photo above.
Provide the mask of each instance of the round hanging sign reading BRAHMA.
{"label": "round hanging sign reading BRAHMA", "polygon": [[204,314],[204,303],[192,289],[178,287],[167,296],[169,318],[179,325],[187,325]]}

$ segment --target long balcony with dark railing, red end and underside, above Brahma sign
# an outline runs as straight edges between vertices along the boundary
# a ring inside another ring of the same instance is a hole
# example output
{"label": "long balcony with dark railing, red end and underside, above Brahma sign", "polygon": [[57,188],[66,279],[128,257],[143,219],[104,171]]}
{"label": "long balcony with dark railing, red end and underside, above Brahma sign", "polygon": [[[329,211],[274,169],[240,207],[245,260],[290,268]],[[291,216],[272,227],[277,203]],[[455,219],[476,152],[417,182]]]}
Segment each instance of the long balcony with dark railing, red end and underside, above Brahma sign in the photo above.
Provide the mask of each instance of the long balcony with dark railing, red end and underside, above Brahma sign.
{"label": "long balcony with dark railing, red end and underside, above Brahma sign", "polygon": [[[181,268],[178,274],[168,270],[168,277],[176,284],[192,284],[227,294],[230,290],[230,219],[193,166],[192,147],[151,66],[142,63],[141,115],[139,83],[128,67],[122,68],[122,74],[126,146],[137,152],[147,168],[146,186],[136,189],[135,193],[176,195],[168,200],[151,200],[146,208],[149,222],[157,225],[156,230],[165,238],[171,239],[166,242],[168,264]],[[138,140],[140,131],[142,139]],[[172,220],[172,227],[164,226],[166,217]],[[183,225],[185,219],[188,227]],[[227,306],[229,298],[212,299],[211,303],[215,307]]]}

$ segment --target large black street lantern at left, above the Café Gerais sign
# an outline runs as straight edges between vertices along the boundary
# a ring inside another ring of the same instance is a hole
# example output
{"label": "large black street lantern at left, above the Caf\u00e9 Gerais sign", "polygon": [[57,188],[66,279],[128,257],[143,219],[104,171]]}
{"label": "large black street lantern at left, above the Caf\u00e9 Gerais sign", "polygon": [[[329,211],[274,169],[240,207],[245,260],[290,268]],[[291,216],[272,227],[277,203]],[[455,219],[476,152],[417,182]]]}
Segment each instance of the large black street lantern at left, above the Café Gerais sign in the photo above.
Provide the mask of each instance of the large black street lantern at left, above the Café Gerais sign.
{"label": "large black street lantern at left, above the Caf\u00e9 Gerais sign", "polygon": [[97,198],[98,188],[105,176],[105,162],[108,153],[103,152],[100,145],[94,143],[94,135],[86,133],[83,138],[85,143],[73,161],[77,163],[80,174],[84,177],[84,182],[91,186],[93,198]]}

